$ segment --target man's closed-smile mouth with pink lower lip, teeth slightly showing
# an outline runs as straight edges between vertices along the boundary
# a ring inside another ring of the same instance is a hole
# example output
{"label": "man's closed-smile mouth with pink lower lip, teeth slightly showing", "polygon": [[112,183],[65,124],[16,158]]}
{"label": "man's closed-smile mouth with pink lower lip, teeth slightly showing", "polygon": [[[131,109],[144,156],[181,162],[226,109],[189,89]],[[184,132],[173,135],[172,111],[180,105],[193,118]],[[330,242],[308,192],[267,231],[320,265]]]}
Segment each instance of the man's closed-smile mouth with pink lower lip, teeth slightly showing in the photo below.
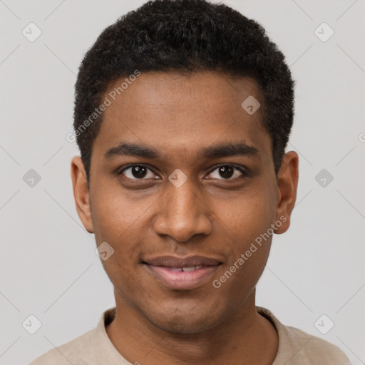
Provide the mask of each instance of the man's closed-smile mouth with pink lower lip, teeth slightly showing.
{"label": "man's closed-smile mouth with pink lower lip, teeth slightly showing", "polygon": [[191,290],[212,281],[222,262],[202,256],[154,257],[142,262],[154,279],[168,289]]}

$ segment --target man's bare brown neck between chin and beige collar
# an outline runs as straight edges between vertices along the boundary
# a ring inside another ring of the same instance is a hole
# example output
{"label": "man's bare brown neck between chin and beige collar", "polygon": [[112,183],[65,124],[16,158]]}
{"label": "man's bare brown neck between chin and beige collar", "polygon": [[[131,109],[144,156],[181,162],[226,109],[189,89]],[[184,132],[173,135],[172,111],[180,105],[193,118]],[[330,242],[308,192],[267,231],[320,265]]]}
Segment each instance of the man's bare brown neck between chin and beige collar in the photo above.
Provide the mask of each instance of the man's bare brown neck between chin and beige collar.
{"label": "man's bare brown neck between chin and beige collar", "polygon": [[[106,327],[131,364],[272,364],[277,331],[255,307],[255,289],[237,312],[212,329],[193,334],[165,331],[115,296],[116,315]],[[213,362],[214,362],[213,361]]]}

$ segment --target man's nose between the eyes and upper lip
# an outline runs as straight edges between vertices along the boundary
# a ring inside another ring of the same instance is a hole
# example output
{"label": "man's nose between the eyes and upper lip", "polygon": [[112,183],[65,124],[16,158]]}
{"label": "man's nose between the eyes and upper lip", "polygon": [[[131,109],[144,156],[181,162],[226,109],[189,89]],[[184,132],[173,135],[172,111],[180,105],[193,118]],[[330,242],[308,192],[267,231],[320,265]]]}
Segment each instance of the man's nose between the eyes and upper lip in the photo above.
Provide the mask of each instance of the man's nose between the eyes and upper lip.
{"label": "man's nose between the eyes and upper lip", "polygon": [[168,182],[167,191],[158,202],[158,215],[154,222],[158,235],[169,235],[178,242],[212,232],[211,211],[188,181],[180,187]]}

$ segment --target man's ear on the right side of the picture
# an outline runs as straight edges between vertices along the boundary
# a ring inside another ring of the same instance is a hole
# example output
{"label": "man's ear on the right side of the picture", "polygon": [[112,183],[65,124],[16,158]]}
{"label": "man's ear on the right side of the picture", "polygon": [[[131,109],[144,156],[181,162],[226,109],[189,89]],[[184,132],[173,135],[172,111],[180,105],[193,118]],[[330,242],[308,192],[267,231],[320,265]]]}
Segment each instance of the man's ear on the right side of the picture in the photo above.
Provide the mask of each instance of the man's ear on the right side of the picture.
{"label": "man's ear on the right side of the picture", "polygon": [[282,166],[277,174],[277,214],[276,221],[282,222],[275,233],[281,234],[288,230],[290,215],[297,200],[297,187],[299,178],[299,158],[294,151],[285,153]]}

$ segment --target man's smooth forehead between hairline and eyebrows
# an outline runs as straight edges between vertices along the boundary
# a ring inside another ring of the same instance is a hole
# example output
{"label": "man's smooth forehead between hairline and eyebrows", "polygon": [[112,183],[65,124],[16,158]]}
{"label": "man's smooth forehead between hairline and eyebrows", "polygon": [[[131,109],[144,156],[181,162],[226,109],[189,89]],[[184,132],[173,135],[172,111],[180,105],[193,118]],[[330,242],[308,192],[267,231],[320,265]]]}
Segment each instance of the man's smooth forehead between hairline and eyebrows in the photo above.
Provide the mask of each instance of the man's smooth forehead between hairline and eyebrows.
{"label": "man's smooth forehead between hairline and eyebrows", "polygon": [[252,78],[209,71],[148,72],[128,83],[120,78],[104,97],[110,106],[103,112],[94,152],[105,153],[120,140],[185,155],[215,143],[242,141],[270,152],[262,110],[247,113],[242,108],[247,98],[263,103]]}

